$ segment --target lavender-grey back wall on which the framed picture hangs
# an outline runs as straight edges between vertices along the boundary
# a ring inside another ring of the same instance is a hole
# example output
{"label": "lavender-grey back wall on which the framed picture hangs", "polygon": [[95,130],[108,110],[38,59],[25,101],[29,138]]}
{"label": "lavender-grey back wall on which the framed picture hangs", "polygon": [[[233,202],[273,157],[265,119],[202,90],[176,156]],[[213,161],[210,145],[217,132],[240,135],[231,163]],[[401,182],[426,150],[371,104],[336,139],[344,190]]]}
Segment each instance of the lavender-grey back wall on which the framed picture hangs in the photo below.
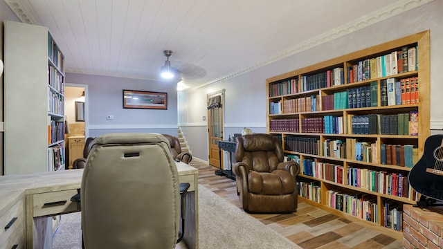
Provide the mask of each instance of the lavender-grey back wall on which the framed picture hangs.
{"label": "lavender-grey back wall on which the framed picture hangs", "polygon": [[[88,85],[89,136],[113,132],[154,132],[177,136],[177,84],[66,73],[66,82]],[[123,89],[168,93],[168,109],[123,109]],[[107,120],[107,116],[114,116]]]}

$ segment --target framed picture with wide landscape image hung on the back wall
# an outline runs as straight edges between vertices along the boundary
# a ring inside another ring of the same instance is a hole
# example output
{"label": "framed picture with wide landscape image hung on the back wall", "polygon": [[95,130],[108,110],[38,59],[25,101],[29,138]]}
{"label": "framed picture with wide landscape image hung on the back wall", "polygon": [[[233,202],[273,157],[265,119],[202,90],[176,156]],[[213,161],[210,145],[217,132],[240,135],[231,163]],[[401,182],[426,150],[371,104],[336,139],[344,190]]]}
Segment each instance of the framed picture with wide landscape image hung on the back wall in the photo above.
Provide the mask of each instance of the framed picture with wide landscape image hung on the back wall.
{"label": "framed picture with wide landscape image hung on the back wall", "polygon": [[123,90],[123,108],[168,109],[168,93]]}

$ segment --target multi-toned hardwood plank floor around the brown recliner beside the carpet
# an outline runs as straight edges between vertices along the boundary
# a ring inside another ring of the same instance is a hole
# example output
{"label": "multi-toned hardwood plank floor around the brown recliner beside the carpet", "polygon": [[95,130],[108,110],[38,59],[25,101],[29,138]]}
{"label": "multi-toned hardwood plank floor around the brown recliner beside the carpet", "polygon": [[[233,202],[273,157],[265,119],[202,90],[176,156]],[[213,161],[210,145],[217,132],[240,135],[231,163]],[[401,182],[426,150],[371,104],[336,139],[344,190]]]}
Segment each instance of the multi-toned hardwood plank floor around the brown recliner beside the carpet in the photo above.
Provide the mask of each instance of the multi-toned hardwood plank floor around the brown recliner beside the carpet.
{"label": "multi-toned hardwood plank floor around the brown recliner beside the carpet", "polygon": [[[237,196],[235,181],[224,176],[216,176],[217,168],[201,160],[192,160],[190,165],[199,169],[199,184],[208,187],[237,207],[242,207]],[[251,214],[251,216],[305,249],[403,248],[403,241],[304,202],[299,202],[297,212],[292,214]]]}

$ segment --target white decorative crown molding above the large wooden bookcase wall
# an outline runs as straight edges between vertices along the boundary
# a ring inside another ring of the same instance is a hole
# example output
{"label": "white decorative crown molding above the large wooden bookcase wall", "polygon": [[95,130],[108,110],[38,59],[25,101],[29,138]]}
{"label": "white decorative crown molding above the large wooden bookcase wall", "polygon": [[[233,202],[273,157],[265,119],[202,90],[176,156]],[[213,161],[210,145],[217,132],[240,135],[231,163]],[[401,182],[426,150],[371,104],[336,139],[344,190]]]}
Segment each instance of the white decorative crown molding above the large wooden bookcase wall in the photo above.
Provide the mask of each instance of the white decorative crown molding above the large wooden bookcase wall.
{"label": "white decorative crown molding above the large wooden bookcase wall", "polygon": [[267,64],[271,64],[273,62],[277,62],[280,59],[284,59],[286,57],[289,57],[291,55],[295,55],[296,53],[300,53],[304,50],[308,50],[309,48],[313,48],[315,46],[318,46],[320,44],[325,44],[327,42],[331,42],[334,39],[337,39],[339,37],[343,37],[345,35],[349,35],[350,33],[354,33],[357,30],[361,30],[363,28],[366,28],[368,26],[371,26],[373,24],[377,24],[380,21],[384,21],[386,19],[389,19],[391,17],[395,17],[397,15],[400,15],[404,12],[408,12],[409,10],[413,10],[415,8],[418,8],[420,6],[424,6],[427,3],[431,3],[435,0],[408,0],[408,1],[397,1],[395,3],[392,3],[389,6],[386,6],[384,8],[381,8],[380,10],[377,10],[372,13],[368,13],[368,15],[365,15],[359,19],[355,19],[354,21],[350,21],[347,24],[344,24],[343,26],[338,26],[337,28],[334,28],[334,30],[331,30],[327,33],[322,33],[320,35],[317,35],[316,37],[312,37],[311,39],[308,39],[305,42],[302,42],[300,44],[296,44],[296,46],[293,46],[292,48],[289,48],[288,50],[284,50],[277,55],[269,57],[269,59],[257,63],[251,67],[243,68],[240,71],[230,73],[228,75],[224,75],[223,77],[219,77],[216,80],[213,80],[211,82],[208,82],[207,84],[202,84],[201,86],[197,86],[196,88],[190,89],[187,91],[188,93],[192,93],[195,91],[199,91],[201,89],[205,89],[209,86],[213,86],[219,82],[223,82],[224,80],[228,80],[231,77],[235,77],[237,75],[242,75],[243,73],[247,73],[249,71],[253,71],[257,68],[260,68],[262,66],[266,66]]}

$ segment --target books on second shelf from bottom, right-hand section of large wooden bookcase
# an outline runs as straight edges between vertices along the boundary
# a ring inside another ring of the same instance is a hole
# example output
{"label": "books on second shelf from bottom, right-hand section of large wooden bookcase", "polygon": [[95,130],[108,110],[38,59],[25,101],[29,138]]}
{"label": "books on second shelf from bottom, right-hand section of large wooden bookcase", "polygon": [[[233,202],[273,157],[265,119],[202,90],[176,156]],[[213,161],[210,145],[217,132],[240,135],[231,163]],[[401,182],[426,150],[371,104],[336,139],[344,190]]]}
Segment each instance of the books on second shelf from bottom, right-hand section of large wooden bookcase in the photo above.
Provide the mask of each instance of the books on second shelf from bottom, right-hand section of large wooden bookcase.
{"label": "books on second shelf from bottom, right-hand section of large wooden bookcase", "polygon": [[416,195],[415,190],[409,185],[406,174],[374,169],[349,167],[347,169],[347,185],[408,199],[412,199]]}

